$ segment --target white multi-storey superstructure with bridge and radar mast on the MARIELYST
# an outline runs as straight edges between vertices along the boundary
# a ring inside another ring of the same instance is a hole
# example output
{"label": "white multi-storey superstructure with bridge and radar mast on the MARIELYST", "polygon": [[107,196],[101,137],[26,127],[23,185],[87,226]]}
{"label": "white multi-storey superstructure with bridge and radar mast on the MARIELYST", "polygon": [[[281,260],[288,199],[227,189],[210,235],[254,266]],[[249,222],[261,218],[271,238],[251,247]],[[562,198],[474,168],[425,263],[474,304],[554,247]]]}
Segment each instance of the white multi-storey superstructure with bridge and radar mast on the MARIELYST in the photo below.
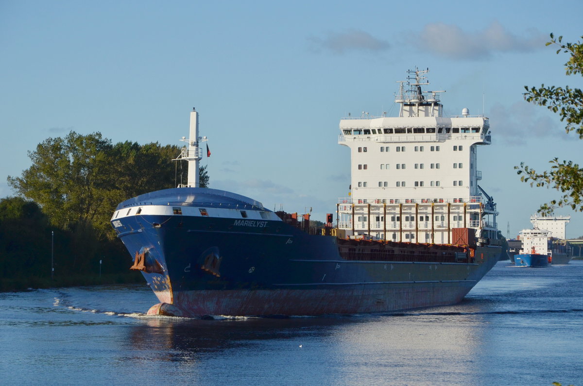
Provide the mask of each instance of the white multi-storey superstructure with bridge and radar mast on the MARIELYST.
{"label": "white multi-storey superstructure with bridge and radar mast on the MARIELYST", "polygon": [[[350,148],[351,195],[339,199],[347,237],[454,244],[455,228],[497,238],[496,204],[482,190],[477,148],[490,145],[483,115],[444,117],[439,93],[422,92],[428,70],[401,82],[399,117],[343,118],[340,145]],[[423,82],[423,83],[422,83]]]}

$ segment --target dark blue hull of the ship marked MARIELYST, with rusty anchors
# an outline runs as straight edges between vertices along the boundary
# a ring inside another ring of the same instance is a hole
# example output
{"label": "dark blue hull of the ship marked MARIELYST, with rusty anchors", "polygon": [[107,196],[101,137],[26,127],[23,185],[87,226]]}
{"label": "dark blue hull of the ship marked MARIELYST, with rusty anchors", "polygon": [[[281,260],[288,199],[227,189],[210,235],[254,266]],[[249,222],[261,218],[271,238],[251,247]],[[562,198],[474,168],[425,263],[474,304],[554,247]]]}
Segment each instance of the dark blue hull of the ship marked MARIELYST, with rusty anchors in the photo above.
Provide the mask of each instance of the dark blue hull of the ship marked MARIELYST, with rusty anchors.
{"label": "dark blue hull of the ship marked MARIELYST, with rusty anchors", "polygon": [[[346,259],[336,237],[307,234],[273,219],[257,202],[230,196],[236,195],[180,188],[118,206],[115,216],[124,215],[112,219],[118,237],[160,300],[150,314],[318,315],[453,304],[501,252],[478,247],[464,262]],[[125,215],[147,206],[174,212]],[[244,209],[247,216],[263,212],[269,219],[184,215],[189,207],[208,213]]]}

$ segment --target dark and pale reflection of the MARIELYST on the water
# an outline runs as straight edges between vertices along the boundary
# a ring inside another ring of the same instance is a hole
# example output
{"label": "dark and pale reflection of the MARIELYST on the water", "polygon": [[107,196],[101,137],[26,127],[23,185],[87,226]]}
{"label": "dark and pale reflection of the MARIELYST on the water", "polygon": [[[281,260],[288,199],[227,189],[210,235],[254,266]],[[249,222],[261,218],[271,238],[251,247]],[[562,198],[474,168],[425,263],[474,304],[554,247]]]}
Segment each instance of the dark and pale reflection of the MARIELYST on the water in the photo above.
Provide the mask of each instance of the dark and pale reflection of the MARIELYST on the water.
{"label": "dark and pale reflection of the MARIELYST on the water", "polygon": [[[132,327],[129,344],[142,355],[128,360],[134,366],[142,363],[144,370],[151,370],[152,363],[173,362],[178,371],[205,377],[211,373],[214,380],[222,379],[222,366],[241,366],[238,371],[244,372],[285,366],[288,375],[322,384],[378,380],[378,371],[387,381],[426,383],[432,373],[436,379],[455,376],[457,383],[475,384],[475,361],[483,343],[479,326],[487,322],[480,308],[469,303],[464,301],[459,309],[382,315],[149,319]],[[227,373],[232,376],[233,369]]]}

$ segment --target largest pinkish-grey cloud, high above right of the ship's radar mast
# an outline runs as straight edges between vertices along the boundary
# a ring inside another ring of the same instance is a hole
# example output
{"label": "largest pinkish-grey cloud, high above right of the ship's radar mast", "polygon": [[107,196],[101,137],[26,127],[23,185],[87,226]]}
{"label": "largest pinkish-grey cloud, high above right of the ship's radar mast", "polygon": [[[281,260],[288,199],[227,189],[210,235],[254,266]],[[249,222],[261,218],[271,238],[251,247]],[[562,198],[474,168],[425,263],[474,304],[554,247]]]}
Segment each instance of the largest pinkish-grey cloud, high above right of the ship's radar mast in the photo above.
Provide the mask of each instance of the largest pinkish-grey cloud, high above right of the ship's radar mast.
{"label": "largest pinkish-grey cloud, high above right of the ship's radar mast", "polygon": [[451,59],[483,59],[497,52],[529,52],[545,47],[548,39],[545,34],[531,29],[526,35],[515,36],[497,21],[477,32],[463,31],[451,24],[433,23],[423,27],[416,44],[423,51]]}

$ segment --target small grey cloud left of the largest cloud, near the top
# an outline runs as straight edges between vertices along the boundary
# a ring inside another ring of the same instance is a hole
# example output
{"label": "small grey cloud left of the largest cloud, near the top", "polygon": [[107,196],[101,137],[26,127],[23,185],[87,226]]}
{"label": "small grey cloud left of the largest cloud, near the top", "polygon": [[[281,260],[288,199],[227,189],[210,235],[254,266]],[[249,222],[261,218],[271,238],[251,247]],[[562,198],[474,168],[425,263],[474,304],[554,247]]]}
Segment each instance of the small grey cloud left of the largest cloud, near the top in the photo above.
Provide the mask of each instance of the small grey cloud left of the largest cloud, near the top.
{"label": "small grey cloud left of the largest cloud, near the top", "polygon": [[328,32],[325,37],[308,37],[315,52],[331,51],[334,54],[345,54],[349,51],[378,52],[387,50],[387,41],[375,38],[361,30],[346,30],[343,32]]}

